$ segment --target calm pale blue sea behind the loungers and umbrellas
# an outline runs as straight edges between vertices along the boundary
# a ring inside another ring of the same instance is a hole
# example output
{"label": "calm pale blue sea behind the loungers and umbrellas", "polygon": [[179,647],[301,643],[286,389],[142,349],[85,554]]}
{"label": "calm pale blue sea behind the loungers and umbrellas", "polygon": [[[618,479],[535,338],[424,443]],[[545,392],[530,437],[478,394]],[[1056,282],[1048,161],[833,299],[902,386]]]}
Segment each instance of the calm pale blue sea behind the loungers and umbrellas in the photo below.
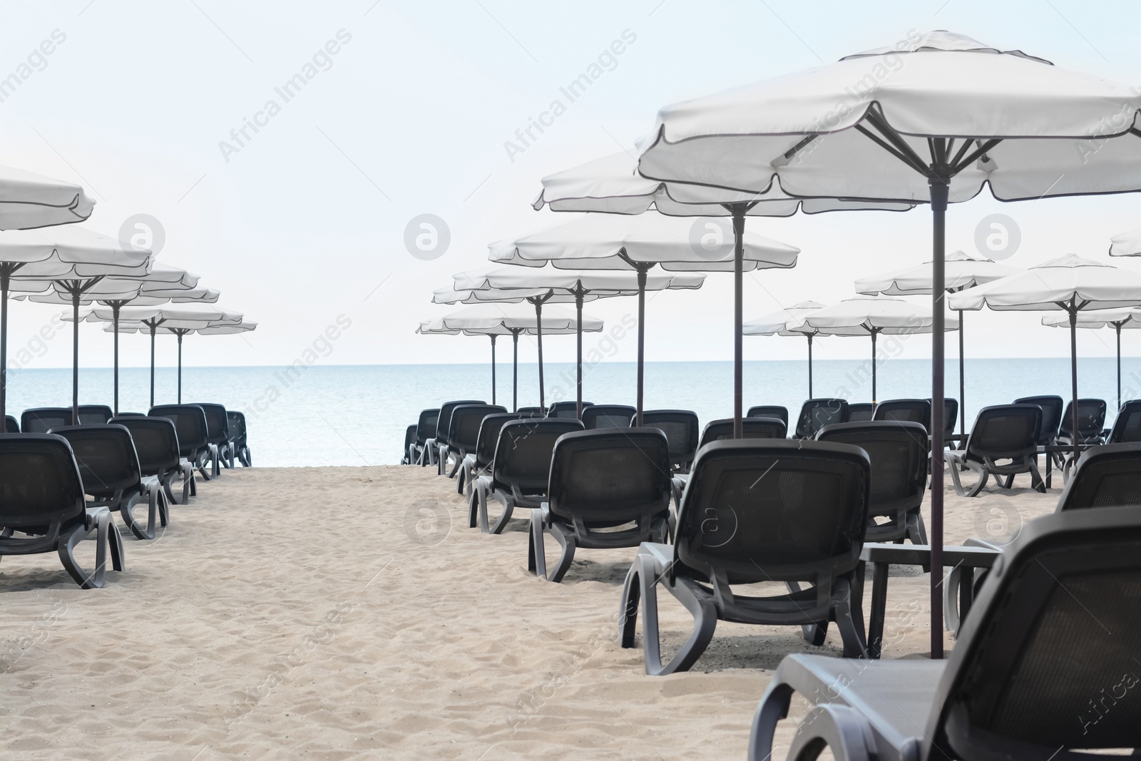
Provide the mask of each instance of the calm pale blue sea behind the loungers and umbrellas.
{"label": "calm pale blue sea behind the loungers and umbrellas", "polygon": [[[930,396],[930,362],[890,359],[877,372],[880,400]],[[633,363],[604,362],[583,371],[588,402],[633,404]],[[1122,361],[1124,398],[1141,397],[1141,358]],[[545,366],[547,400],[574,399],[574,365]],[[947,396],[958,395],[957,361],[947,364]],[[121,371],[120,410],[146,412],[149,371]],[[519,366],[519,405],[539,404],[537,366]],[[1078,363],[1078,394],[1106,399],[1116,408],[1114,359]],[[314,365],[299,378],[282,367],[187,367],[184,402],[218,402],[245,412],[256,465],[359,465],[395,463],[404,429],[421,408],[458,398],[492,399],[488,365]],[[818,361],[816,396],[869,402],[867,362]],[[1067,359],[969,359],[968,428],[979,407],[1019,396],[1058,394],[1069,398]],[[808,395],[807,363],[745,363],[745,405],[782,404],[795,414]],[[173,369],[156,371],[155,402],[173,403]],[[112,371],[80,371],[80,402],[111,404]],[[511,408],[511,365],[497,369],[496,402]],[[71,404],[70,370],[11,371],[8,411]],[[733,414],[733,364],[653,362],[646,365],[646,408],[693,410],[702,423]],[[1110,414],[1111,422],[1112,414]]]}

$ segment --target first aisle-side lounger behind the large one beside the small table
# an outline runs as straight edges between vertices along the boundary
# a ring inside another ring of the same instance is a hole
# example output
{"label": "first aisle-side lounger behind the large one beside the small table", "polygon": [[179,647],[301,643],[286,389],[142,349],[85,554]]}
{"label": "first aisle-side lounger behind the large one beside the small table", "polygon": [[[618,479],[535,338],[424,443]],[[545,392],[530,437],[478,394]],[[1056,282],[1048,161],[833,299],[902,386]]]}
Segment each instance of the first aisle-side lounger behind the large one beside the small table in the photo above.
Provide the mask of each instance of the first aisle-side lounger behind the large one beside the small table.
{"label": "first aisle-side lounger behind the large one beside the small table", "polygon": [[[548,499],[531,512],[527,569],[561,582],[576,548],[634,548],[670,531],[670,443],[657,428],[588,430],[559,437]],[[630,528],[620,528],[632,524]],[[547,568],[543,537],[561,553]]]}

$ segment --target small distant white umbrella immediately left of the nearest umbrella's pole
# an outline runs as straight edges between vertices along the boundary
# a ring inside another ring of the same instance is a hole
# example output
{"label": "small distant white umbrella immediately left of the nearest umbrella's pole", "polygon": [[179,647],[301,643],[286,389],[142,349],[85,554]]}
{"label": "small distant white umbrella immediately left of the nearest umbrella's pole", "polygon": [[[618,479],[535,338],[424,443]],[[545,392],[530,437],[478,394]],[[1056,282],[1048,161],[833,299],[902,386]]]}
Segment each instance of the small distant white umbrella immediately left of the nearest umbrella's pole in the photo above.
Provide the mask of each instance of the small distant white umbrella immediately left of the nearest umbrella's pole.
{"label": "small distant white umbrella immediately left of the nearest umbrella's pole", "polygon": [[[942,305],[939,305],[940,309]],[[875,356],[875,339],[884,335],[912,335],[930,333],[934,329],[934,316],[928,307],[893,299],[888,296],[857,296],[840,303],[817,309],[806,315],[800,323],[788,325],[790,331],[814,331],[819,335],[869,335],[872,337],[872,404],[876,403],[875,375],[879,362]],[[944,330],[956,330],[958,318],[944,315]]]}

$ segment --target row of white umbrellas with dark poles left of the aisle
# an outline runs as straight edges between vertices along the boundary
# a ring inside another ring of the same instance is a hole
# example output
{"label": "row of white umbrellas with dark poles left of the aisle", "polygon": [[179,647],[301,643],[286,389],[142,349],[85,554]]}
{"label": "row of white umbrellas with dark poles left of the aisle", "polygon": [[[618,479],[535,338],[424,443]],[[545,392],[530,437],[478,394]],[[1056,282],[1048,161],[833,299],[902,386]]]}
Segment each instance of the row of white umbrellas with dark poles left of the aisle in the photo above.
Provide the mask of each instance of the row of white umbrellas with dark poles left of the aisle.
{"label": "row of white umbrellas with dark poles left of the aisle", "polygon": [[[79,324],[107,322],[115,333],[114,411],[119,412],[119,333],[148,329],[152,335],[151,404],[154,404],[154,335],[171,332],[179,339],[179,402],[181,402],[181,338],[189,332],[240,332],[257,323],[221,311],[156,308],[157,305],[213,303],[216,290],[200,288],[199,276],[159,265],[147,249],[84,229],[95,202],[83,189],[18,169],[0,167],[0,419],[7,412],[8,299],[70,305],[73,322],[72,411],[79,415]],[[80,306],[97,302],[82,317]],[[143,307],[141,310],[124,307]]]}

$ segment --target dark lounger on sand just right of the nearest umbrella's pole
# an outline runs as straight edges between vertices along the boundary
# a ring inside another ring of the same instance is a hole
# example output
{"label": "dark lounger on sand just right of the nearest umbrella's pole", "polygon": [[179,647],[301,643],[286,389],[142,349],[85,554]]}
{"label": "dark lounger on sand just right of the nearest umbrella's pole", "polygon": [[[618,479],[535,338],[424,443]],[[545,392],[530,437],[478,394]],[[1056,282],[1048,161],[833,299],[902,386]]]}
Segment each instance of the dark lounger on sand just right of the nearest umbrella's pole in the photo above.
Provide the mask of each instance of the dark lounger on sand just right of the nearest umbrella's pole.
{"label": "dark lounger on sand just right of the nearest umbrella's pole", "polygon": [[[998,404],[979,410],[966,446],[947,453],[947,464],[955,493],[977,496],[990,476],[1003,488],[1010,488],[1017,473],[1030,473],[1030,486],[1045,493],[1046,485],[1038,473],[1038,446],[1035,438],[1042,423],[1042,407],[1036,404]],[[998,460],[1010,460],[998,464]],[[978,475],[974,486],[963,487],[960,468]],[[1003,481],[1005,478],[1005,483]]]}

